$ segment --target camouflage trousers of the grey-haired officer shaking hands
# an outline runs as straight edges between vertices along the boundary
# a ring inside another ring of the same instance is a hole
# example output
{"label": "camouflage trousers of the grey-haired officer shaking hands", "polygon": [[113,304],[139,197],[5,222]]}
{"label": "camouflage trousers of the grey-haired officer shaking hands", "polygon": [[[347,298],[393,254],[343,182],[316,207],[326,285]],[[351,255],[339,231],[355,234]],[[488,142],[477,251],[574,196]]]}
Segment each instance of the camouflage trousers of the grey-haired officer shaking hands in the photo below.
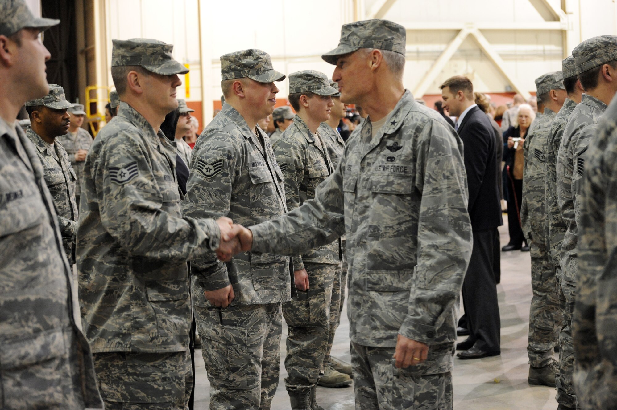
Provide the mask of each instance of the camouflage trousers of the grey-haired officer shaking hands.
{"label": "camouflage trousers of the grey-haired officer shaking hands", "polygon": [[356,410],[452,410],[452,374],[397,369],[394,347],[351,342]]}

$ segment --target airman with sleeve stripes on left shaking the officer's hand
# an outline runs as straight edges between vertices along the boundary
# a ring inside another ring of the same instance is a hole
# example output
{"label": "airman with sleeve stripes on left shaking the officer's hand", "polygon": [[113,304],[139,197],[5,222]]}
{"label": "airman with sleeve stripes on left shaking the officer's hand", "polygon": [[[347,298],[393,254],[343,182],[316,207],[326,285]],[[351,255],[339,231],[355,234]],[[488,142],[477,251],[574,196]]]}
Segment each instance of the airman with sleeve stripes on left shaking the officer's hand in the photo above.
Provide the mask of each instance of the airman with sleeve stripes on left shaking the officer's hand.
{"label": "airman with sleeve stripes on left shaking the officer's hand", "polygon": [[[152,98],[147,93],[168,86],[168,97],[148,106],[162,123],[177,105],[176,74],[188,70],[173,60],[171,44],[113,43],[112,77],[123,102],[84,166],[77,230],[81,321],[106,409],[184,409],[193,381],[186,262],[212,255],[222,231],[215,220],[181,215],[176,148],[159,124],[131,107],[135,98]],[[126,77],[131,69],[139,76],[139,67],[153,73],[138,77],[153,87],[135,96]]]}

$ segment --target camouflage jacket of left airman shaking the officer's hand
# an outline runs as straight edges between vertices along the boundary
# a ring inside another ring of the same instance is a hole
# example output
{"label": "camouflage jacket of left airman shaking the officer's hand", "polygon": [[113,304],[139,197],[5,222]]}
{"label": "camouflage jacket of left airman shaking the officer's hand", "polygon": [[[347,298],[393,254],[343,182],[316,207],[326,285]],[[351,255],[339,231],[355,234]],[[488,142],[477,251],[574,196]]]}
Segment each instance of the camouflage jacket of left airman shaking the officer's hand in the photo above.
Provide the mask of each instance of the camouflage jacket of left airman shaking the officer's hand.
{"label": "camouflage jacket of left airman shaking the officer's hand", "polygon": [[122,102],[84,167],[77,270],[93,352],[181,352],[191,303],[186,261],[213,254],[213,220],[182,217],[176,147]]}

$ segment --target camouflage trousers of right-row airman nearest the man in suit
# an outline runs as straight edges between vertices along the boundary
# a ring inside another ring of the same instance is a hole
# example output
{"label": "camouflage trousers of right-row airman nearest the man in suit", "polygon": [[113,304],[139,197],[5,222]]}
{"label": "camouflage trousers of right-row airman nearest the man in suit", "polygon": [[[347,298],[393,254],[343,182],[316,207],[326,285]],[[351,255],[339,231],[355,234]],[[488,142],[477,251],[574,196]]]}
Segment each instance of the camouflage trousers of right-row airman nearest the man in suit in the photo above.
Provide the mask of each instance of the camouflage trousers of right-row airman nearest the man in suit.
{"label": "camouflage trousers of right-row airman nearest the man in suit", "polygon": [[[534,249],[535,248],[535,249]],[[563,315],[559,305],[555,265],[544,246],[531,243],[531,307],[529,308],[529,364],[541,368],[553,360]]]}

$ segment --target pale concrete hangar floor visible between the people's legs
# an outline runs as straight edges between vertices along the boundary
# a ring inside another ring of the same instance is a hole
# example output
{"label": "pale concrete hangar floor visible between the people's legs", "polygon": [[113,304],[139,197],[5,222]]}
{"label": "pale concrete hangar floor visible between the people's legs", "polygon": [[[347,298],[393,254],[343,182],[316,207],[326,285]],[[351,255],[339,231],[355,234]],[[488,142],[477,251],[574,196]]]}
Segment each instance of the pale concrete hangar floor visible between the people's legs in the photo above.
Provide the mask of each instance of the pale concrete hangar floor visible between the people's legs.
{"label": "pale concrete hangar floor visible between the people's legs", "polygon": [[[501,227],[500,233],[502,245],[506,244],[507,227]],[[502,283],[497,285],[502,323],[502,354],[481,360],[455,359],[453,371],[455,410],[557,409],[554,388],[531,387],[527,384],[530,269],[529,252],[502,252]],[[272,405],[273,410],[289,409],[289,398],[283,384],[283,378],[286,376],[283,366],[285,338],[286,328],[283,328],[281,382]],[[464,338],[460,340],[462,339]],[[333,355],[349,361],[349,323],[345,312],[334,343]],[[209,384],[201,360],[201,351],[197,352],[199,353],[195,408],[201,410],[208,408]],[[317,401],[326,410],[354,409],[354,389],[319,387]]]}

